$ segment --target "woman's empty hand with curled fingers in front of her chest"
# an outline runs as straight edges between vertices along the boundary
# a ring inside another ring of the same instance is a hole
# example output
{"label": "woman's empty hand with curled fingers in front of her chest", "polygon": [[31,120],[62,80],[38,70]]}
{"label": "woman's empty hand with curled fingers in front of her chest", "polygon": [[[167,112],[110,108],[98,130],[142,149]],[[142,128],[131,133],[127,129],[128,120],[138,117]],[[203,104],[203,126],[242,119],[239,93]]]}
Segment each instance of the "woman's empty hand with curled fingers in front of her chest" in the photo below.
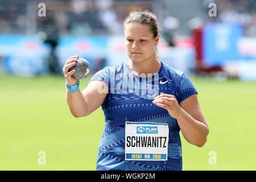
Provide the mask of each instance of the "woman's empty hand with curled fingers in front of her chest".
{"label": "woman's empty hand with curled fingers in front of her chest", "polygon": [[164,94],[161,92],[160,95],[156,96],[152,102],[157,106],[168,110],[168,113],[172,118],[177,119],[183,111],[183,109],[181,109],[179,106],[176,97],[171,94]]}

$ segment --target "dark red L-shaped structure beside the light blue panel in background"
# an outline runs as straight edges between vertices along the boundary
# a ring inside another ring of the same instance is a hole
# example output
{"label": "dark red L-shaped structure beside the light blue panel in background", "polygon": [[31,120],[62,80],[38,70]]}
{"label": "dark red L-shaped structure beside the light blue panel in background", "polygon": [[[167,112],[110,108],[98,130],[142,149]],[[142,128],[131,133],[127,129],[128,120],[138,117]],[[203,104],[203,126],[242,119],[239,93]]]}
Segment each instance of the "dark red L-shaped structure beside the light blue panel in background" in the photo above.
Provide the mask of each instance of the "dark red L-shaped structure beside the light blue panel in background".
{"label": "dark red L-shaped structure beside the light blue panel in background", "polygon": [[200,75],[201,73],[212,73],[222,71],[222,68],[220,66],[208,67],[204,64],[203,27],[193,29],[192,38],[196,51],[196,75]]}

